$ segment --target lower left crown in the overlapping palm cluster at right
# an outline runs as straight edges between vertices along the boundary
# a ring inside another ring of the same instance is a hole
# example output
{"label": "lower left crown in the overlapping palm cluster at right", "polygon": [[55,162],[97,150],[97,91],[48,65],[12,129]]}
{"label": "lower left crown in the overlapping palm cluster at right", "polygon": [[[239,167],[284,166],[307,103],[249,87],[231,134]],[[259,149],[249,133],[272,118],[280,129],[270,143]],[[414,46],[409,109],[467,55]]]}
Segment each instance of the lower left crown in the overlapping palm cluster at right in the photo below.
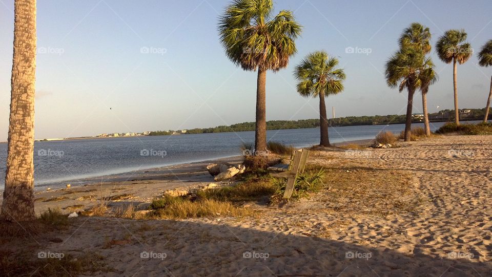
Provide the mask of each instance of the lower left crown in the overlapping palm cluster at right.
{"label": "lower left crown in the overlapping palm cluster at right", "polygon": [[425,55],[414,47],[403,48],[397,51],[386,62],[386,83],[390,88],[398,87],[402,92],[405,88],[420,88],[420,72],[425,66]]}

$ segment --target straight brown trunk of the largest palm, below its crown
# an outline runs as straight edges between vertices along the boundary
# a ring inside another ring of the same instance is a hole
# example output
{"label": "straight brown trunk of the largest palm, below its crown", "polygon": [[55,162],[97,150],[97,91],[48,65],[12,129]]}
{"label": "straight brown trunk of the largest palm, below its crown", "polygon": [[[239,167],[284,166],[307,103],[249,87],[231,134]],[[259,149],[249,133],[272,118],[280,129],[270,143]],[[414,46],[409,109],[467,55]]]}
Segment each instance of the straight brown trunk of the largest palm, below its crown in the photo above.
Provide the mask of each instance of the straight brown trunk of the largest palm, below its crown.
{"label": "straight brown trunk of the largest palm, below its crown", "polygon": [[258,80],[256,87],[256,129],[255,129],[255,152],[267,149],[267,71],[258,69]]}

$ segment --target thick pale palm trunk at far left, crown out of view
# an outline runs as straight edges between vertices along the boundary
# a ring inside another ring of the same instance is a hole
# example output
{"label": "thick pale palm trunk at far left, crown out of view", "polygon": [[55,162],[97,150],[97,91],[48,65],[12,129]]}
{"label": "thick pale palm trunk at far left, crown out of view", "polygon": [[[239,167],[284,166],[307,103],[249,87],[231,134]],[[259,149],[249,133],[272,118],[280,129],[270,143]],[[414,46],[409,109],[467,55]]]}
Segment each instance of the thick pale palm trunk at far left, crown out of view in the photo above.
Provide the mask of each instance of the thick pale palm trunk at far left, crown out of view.
{"label": "thick pale palm trunk at far left, crown out of view", "polygon": [[15,0],[10,121],[2,217],[33,220],[36,0]]}

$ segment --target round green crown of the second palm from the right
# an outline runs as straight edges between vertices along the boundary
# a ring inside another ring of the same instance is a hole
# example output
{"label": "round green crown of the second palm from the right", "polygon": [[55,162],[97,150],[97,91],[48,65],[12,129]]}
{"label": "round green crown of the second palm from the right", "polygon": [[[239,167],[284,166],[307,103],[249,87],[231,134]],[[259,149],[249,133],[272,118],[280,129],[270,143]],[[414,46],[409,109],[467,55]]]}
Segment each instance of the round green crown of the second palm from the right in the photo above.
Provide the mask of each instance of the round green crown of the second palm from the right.
{"label": "round green crown of the second palm from the right", "polygon": [[456,59],[460,65],[465,63],[473,54],[473,49],[466,40],[465,30],[448,30],[439,37],[436,51],[439,58],[445,63]]}

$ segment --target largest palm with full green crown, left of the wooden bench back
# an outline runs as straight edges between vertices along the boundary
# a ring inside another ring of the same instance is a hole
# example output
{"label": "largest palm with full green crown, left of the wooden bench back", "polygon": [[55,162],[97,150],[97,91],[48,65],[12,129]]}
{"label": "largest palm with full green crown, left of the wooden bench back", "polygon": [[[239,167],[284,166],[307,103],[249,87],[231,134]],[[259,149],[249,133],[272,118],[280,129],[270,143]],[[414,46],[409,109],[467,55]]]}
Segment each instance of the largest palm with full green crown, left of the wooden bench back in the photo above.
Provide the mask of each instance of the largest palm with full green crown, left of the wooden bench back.
{"label": "largest palm with full green crown, left of the wooden bench back", "polygon": [[265,114],[267,71],[285,68],[296,53],[301,26],[291,11],[272,17],[272,0],[235,0],[219,18],[220,41],[226,55],[243,70],[258,71],[255,150],[267,148]]}

